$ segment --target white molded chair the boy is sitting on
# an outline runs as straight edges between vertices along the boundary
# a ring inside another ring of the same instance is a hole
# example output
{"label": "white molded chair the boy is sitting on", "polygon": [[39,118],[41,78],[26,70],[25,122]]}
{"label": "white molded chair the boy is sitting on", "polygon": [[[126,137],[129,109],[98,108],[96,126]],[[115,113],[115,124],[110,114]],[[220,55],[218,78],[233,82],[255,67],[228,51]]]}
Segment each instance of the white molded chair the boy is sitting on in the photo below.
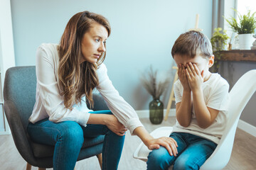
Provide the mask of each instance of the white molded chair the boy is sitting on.
{"label": "white molded chair the boy is sitting on", "polygon": [[[233,148],[233,142],[235,137],[235,131],[238,126],[238,120],[245,108],[247,102],[256,91],[256,69],[250,70],[245,73],[236,82],[235,86],[230,91],[230,106],[228,108],[228,123],[221,137],[218,146],[216,147],[213,154],[206,160],[201,166],[201,169],[207,170],[218,170],[223,169],[230,159],[230,155]],[[151,135],[153,137],[169,137],[172,131],[172,127],[157,128]],[[142,159],[144,162],[147,161],[147,156],[150,150],[141,143],[134,152],[134,158]]]}

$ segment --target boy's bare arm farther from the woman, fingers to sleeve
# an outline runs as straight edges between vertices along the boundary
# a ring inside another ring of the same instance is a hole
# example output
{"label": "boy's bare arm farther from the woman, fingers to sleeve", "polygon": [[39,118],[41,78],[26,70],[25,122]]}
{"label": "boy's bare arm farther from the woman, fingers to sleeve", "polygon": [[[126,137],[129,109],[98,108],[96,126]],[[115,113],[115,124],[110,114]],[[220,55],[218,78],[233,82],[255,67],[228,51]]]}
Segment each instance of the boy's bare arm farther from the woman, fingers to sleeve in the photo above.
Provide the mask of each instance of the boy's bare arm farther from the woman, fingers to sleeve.
{"label": "boy's bare arm farther from the woman, fingers to sleeve", "polygon": [[188,84],[191,87],[193,94],[193,106],[196,113],[196,120],[200,128],[208,128],[217,117],[219,111],[206,106],[203,99],[203,91],[201,89],[203,75],[200,74],[196,64],[189,63],[187,64],[187,68],[186,74],[188,77]]}

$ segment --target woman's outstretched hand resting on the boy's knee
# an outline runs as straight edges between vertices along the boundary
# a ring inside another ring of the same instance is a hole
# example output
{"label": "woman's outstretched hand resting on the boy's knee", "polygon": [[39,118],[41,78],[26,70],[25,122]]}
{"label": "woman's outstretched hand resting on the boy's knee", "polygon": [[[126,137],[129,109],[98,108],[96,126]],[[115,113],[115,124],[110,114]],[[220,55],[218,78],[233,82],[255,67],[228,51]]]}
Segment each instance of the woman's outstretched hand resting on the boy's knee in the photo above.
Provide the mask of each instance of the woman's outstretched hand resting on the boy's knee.
{"label": "woman's outstretched hand resting on the boy's knee", "polygon": [[165,147],[171,156],[174,155],[174,157],[176,157],[176,155],[178,154],[178,149],[177,149],[178,144],[177,144],[176,140],[174,140],[174,138],[172,138],[172,137],[159,137],[157,139],[152,139],[149,142],[148,148],[150,150],[159,149],[160,145],[162,147]]}

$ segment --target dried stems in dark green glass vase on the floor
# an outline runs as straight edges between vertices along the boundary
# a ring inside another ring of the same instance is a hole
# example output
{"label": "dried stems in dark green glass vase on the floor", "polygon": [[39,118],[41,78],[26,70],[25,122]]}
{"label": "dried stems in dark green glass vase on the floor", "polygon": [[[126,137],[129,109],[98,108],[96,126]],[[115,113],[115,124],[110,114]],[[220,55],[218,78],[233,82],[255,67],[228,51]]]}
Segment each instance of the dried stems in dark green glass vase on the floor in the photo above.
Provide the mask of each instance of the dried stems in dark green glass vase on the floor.
{"label": "dried stems in dark green glass vase on the floor", "polygon": [[160,96],[164,93],[169,80],[157,81],[157,70],[150,67],[148,74],[141,77],[142,85],[151,94],[153,101],[149,103],[149,120],[152,124],[160,124],[164,119],[164,103]]}

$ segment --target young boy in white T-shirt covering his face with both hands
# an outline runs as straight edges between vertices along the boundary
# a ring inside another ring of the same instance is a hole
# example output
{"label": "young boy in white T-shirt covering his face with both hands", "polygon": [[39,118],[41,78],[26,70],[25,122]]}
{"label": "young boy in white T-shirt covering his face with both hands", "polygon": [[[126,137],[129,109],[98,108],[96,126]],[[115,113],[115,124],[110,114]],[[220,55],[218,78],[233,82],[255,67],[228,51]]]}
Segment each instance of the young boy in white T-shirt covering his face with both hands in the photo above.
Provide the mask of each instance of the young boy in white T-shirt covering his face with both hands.
{"label": "young boy in white T-shirt covering his face with both hands", "polygon": [[[228,82],[212,74],[214,56],[203,33],[181,34],[171,55],[178,66],[174,84],[176,125],[170,137],[172,153],[164,147],[149,153],[147,169],[200,169],[217,147],[228,119]],[[218,162],[216,162],[218,164]]]}

